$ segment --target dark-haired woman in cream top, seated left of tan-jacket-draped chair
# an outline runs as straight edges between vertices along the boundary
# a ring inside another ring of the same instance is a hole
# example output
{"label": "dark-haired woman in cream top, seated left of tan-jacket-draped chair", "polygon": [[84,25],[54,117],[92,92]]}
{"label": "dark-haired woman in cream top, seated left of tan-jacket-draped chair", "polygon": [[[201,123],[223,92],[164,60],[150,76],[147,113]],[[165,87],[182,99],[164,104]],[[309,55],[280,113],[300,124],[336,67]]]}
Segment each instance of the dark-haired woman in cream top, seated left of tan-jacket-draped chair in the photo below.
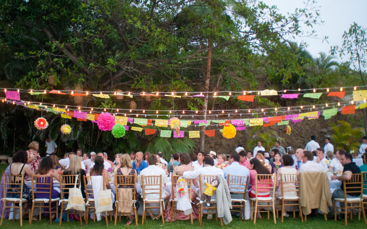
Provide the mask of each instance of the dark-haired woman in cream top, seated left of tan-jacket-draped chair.
{"label": "dark-haired woman in cream top, seated left of tan-jacket-draped chair", "polygon": [[[293,158],[292,158],[291,155],[284,154],[282,156],[282,159],[283,159],[282,161],[283,161],[283,166],[284,167],[281,167],[281,168],[278,169],[277,179],[276,179],[276,186],[279,187],[277,189],[276,194],[275,194],[275,196],[277,198],[282,197],[282,193],[281,193],[282,187],[280,185],[280,177],[283,176],[283,181],[284,181],[284,177],[287,177],[287,175],[285,175],[285,174],[296,174],[296,173],[298,173],[297,169],[293,168],[294,161],[293,161]],[[290,179],[289,175],[288,175],[287,178]],[[294,183],[284,184],[285,187],[283,189],[283,196],[298,196],[297,188],[295,188],[295,185],[296,185],[296,182],[297,182],[297,180],[295,178],[296,177],[294,177],[292,179],[292,180],[295,181]],[[287,204],[287,203],[285,203],[285,204]],[[286,217],[289,216],[289,214],[287,214],[286,211],[284,211],[283,215],[286,216]]]}

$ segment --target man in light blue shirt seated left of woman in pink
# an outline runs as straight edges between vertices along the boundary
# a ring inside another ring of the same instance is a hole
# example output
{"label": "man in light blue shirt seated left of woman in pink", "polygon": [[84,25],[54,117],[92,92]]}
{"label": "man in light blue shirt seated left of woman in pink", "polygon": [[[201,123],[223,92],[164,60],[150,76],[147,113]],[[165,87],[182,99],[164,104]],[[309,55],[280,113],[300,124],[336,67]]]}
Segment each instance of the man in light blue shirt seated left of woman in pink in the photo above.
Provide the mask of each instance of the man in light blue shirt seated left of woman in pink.
{"label": "man in light blue shirt seated left of woman in pink", "polygon": [[[229,156],[229,160],[228,160],[228,164],[229,166],[225,167],[222,171],[224,173],[224,177],[226,178],[226,180],[228,179],[228,175],[231,176],[247,176],[247,179],[250,180],[250,171],[245,167],[245,166],[241,166],[239,164],[240,162],[240,155],[237,152],[233,152],[230,156]],[[248,200],[248,194],[246,191],[246,196],[244,198],[243,193],[238,193],[238,192],[244,192],[244,189],[239,189],[239,188],[245,188],[246,179],[241,179],[238,180],[237,179],[235,181],[232,181],[232,177],[229,178],[229,183],[242,183],[239,185],[229,185],[229,193],[230,193],[230,197],[231,199],[247,199]],[[239,203],[235,203],[233,202],[232,205],[236,205]],[[231,212],[232,214],[237,214],[239,215],[239,213],[237,212]]]}

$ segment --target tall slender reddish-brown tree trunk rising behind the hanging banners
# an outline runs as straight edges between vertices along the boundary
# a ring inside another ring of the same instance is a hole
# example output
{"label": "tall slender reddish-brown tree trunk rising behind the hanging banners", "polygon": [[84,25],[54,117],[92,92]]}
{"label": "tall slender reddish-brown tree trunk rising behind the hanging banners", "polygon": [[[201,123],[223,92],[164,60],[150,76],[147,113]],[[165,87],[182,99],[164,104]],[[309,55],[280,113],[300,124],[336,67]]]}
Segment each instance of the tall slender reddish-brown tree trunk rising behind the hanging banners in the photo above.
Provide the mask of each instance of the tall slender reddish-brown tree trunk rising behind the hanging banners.
{"label": "tall slender reddish-brown tree trunk rising behind the hanging banners", "polygon": [[[211,47],[212,47],[212,39],[209,38],[208,39],[208,59],[207,59],[207,64],[206,64],[206,74],[205,74],[205,86],[204,86],[204,92],[208,92],[209,91],[209,83],[210,83],[210,67],[211,67]],[[203,105],[203,111],[204,111],[204,117],[203,120],[206,120],[206,114],[207,114],[207,110],[208,110],[208,94],[205,93],[204,94],[204,105]],[[205,150],[205,133],[204,130],[206,128],[206,125],[201,127],[201,134],[200,134],[200,151],[204,152]]]}

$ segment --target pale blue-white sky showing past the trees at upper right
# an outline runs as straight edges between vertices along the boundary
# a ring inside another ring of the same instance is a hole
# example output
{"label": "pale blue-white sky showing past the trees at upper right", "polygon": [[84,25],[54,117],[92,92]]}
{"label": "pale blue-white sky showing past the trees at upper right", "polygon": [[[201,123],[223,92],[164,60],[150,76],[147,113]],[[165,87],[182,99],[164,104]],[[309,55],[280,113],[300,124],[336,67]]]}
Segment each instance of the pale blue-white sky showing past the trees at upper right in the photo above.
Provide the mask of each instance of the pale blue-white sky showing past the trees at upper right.
{"label": "pale blue-white sky showing past the trees at upper right", "polygon": [[[295,8],[304,7],[305,0],[262,0],[265,4],[271,6],[276,5],[279,12],[287,15],[287,12],[294,12]],[[323,38],[328,36],[328,43],[320,39],[303,37],[302,39],[309,44],[308,51],[317,56],[319,52],[326,52],[330,55],[330,47],[339,45],[341,47],[343,39],[342,35],[345,30],[348,30],[353,22],[367,29],[367,0],[318,0],[316,5],[319,5],[320,18],[324,21],[323,25],[316,25],[317,37]],[[304,26],[304,29],[307,29]],[[309,32],[311,28],[307,29]],[[301,41],[301,38],[296,38],[295,41]],[[337,55],[340,61],[339,56]],[[343,57],[342,61],[346,61],[347,57]]]}

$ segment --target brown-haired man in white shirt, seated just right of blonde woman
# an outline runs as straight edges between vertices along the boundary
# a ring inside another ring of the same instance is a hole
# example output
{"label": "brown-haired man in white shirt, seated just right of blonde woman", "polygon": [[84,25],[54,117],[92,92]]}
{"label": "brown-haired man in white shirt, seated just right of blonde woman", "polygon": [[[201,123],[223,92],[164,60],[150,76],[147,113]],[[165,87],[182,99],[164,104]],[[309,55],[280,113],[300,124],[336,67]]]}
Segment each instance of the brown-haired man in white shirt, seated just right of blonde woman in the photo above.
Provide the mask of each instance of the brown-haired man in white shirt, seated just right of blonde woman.
{"label": "brown-haired man in white shirt, seated just right of blonde woman", "polygon": [[[139,184],[142,185],[142,176],[160,176],[162,175],[162,186],[161,186],[161,195],[162,199],[164,199],[164,206],[166,206],[166,203],[168,199],[170,198],[170,193],[164,190],[164,187],[166,187],[166,184],[170,182],[168,179],[166,172],[161,169],[160,167],[156,166],[157,158],[156,155],[149,155],[148,156],[148,167],[146,169],[143,169],[139,175]],[[149,189],[159,188],[155,186],[149,186]],[[155,192],[155,190],[147,190],[146,193],[149,192]],[[159,199],[159,194],[146,194],[145,199]],[[147,209],[149,213],[150,209]],[[152,219],[159,219],[161,217],[161,214],[154,215],[153,213],[149,213],[150,217]]]}

